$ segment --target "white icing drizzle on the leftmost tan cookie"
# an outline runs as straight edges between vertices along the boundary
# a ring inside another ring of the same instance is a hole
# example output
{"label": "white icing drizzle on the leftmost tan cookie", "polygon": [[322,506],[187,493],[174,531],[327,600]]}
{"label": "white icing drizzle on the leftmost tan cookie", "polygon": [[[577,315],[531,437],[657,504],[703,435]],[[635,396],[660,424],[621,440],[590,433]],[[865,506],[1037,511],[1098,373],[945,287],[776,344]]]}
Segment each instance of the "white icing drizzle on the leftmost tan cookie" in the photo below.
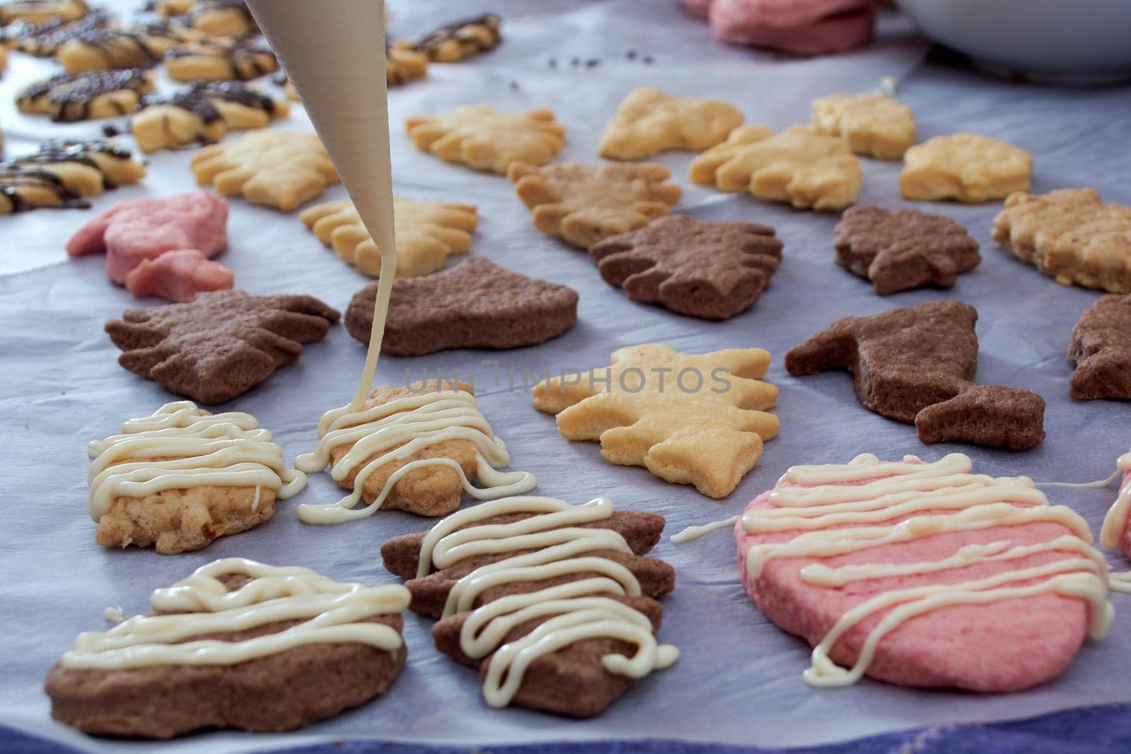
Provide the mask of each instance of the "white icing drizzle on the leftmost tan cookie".
{"label": "white icing drizzle on the leftmost tan cookie", "polygon": [[307,485],[302,471],[286,468],[283,449],[256,417],[208,414],[191,400],[165,404],[152,416],[130,419],[121,434],[93,441],[87,449],[94,459],[87,483],[95,521],[122,496],[202,485],[254,487],[258,508],[262,488],[286,499]]}

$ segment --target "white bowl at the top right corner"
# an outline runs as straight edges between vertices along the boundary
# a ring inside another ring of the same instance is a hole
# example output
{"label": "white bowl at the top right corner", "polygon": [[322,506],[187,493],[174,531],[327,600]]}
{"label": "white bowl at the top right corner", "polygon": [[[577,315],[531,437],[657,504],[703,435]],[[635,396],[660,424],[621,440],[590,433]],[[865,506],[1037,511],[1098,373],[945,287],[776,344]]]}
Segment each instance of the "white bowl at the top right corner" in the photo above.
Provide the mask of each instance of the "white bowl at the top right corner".
{"label": "white bowl at the top right corner", "polygon": [[899,0],[935,42],[990,67],[1131,75],[1131,0]]}

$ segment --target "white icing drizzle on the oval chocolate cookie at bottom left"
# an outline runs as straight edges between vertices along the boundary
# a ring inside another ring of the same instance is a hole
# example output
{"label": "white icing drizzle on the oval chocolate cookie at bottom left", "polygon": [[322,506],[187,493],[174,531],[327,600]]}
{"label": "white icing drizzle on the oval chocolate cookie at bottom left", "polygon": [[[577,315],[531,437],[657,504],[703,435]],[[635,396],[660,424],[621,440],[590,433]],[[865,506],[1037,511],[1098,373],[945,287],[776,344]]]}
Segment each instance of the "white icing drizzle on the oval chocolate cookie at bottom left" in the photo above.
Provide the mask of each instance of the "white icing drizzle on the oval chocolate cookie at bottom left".
{"label": "white icing drizzle on the oval chocolate cookie at bottom left", "polygon": [[[219,577],[251,581],[234,591]],[[411,595],[402,586],[338,583],[310,569],[265,565],[242,557],[214,561],[149,601],[156,615],[135,615],[105,632],[81,633],[62,657],[74,669],[122,669],[152,665],[235,665],[295,647],[327,642],[369,644],[395,652],[400,634],[366,621],[400,613]],[[301,621],[276,633],[242,641],[193,639]]]}

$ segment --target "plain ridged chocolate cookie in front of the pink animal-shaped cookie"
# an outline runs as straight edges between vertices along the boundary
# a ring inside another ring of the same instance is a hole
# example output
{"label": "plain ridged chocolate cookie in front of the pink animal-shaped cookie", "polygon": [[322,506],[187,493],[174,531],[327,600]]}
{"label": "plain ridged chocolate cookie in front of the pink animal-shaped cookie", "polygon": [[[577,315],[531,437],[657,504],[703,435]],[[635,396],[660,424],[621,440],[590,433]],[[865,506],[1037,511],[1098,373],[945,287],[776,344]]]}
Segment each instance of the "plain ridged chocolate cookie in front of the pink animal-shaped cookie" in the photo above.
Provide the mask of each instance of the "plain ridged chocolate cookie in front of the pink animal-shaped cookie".
{"label": "plain ridged chocolate cookie in front of the pink animal-shaped cookie", "polygon": [[198,294],[185,304],[128,310],[106,322],[118,363],[201,404],[222,404],[299,361],[340,314],[313,296]]}

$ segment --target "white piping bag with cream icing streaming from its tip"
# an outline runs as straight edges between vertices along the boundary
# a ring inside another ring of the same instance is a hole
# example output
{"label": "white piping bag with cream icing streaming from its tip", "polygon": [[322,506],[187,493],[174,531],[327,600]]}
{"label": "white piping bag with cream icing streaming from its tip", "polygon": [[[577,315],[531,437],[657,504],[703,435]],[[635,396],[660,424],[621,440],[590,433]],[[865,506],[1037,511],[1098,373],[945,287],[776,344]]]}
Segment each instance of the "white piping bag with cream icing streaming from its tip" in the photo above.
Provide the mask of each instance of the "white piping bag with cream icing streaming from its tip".
{"label": "white piping bag with cream icing streaming from its tip", "polygon": [[397,271],[385,0],[248,0],[248,7],[297,89],[349,199],[381,252],[373,336],[357,393],[346,407],[360,408],[377,370]]}

